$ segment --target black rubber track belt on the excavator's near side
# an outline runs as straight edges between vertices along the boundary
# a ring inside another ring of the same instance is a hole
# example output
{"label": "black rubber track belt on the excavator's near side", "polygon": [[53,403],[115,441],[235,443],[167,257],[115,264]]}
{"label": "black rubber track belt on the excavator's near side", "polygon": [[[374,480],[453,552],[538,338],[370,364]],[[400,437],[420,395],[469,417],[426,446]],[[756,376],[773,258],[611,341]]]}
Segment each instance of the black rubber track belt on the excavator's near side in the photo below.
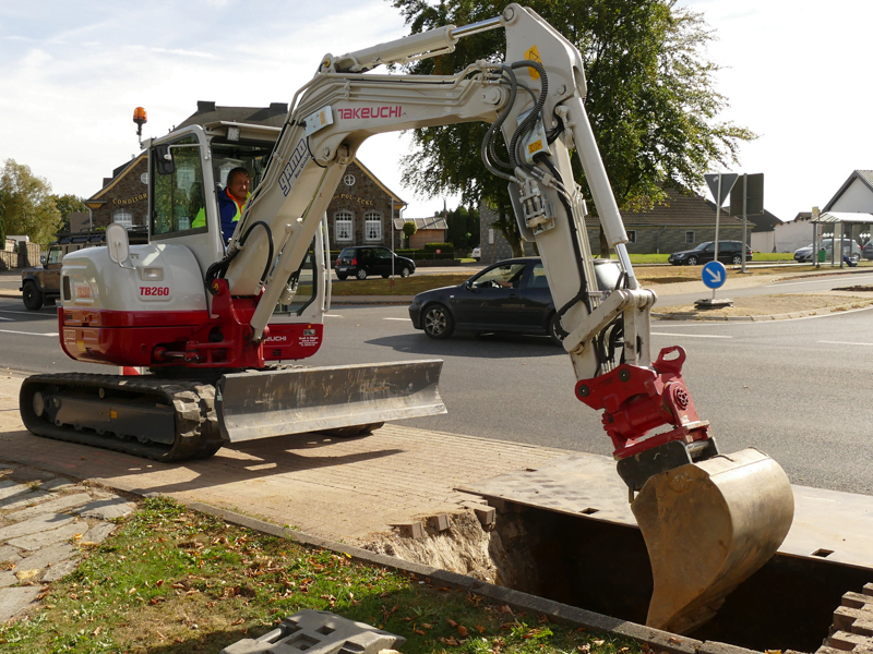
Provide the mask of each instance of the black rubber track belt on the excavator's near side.
{"label": "black rubber track belt on the excavator's near side", "polygon": [[[43,414],[44,417],[38,417],[33,409],[34,393],[48,386],[58,390],[85,391],[93,395],[94,399],[99,399],[100,388],[122,391],[135,398],[152,396],[157,403],[175,410],[174,444],[140,443],[133,438],[122,439],[113,435],[99,435],[88,428],[80,432],[71,426],[56,426],[46,420],[46,413]],[[215,387],[211,384],[166,380],[150,376],[122,377],[83,373],[33,375],[22,384],[19,409],[24,426],[38,436],[89,445],[165,463],[211,457],[224,445],[215,413]]]}

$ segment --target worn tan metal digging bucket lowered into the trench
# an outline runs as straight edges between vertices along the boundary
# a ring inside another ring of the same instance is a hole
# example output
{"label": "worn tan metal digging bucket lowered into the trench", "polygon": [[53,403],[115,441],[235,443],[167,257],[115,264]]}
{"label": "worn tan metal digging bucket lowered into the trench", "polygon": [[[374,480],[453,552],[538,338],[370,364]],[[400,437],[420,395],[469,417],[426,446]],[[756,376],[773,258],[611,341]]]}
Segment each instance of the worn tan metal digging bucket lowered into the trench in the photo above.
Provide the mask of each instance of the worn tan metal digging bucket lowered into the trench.
{"label": "worn tan metal digging bucket lowered into the trench", "polygon": [[776,554],[794,497],[779,464],[749,448],[651,476],[631,508],[655,581],[646,625],[687,633]]}

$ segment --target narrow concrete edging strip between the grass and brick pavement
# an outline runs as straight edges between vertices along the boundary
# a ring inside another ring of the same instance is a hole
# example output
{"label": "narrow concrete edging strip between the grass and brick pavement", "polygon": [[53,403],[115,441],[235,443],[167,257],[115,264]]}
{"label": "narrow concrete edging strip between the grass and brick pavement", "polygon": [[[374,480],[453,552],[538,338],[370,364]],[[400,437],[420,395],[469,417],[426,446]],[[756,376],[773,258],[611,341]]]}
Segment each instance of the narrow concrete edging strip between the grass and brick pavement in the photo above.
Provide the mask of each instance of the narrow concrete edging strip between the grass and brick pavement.
{"label": "narrow concrete edging strip between the grass and brick pavement", "polygon": [[[98,484],[100,486],[120,491],[122,493],[137,495],[140,497],[162,497],[160,493],[128,487],[124,484],[109,482],[108,480],[91,479],[87,481],[89,483]],[[721,643],[718,641],[698,641],[693,638],[678,635],[668,631],[660,631],[658,629],[653,629],[651,627],[646,627],[645,625],[629,622],[619,618],[612,618],[590,610],[585,610],[584,608],[570,606],[569,604],[546,600],[545,597],[538,597],[521,591],[513,591],[512,589],[506,589],[480,581],[473,577],[467,577],[466,574],[458,574],[457,572],[451,572],[449,570],[440,570],[438,568],[415,564],[400,558],[376,554],[374,552],[370,552],[369,549],[362,549],[360,547],[354,547],[351,545],[345,545],[335,541],[312,536],[303,532],[280,528],[270,522],[264,522],[263,520],[242,516],[241,513],[226,509],[219,509],[217,507],[213,507],[212,505],[199,501],[179,501],[179,504],[193,511],[199,511],[201,513],[219,518],[231,524],[244,526],[247,529],[280,538],[287,538],[289,541],[300,543],[301,545],[310,545],[313,547],[321,547],[323,549],[330,549],[331,552],[345,554],[354,559],[372,566],[381,566],[384,568],[392,568],[394,570],[416,574],[424,578],[426,581],[430,581],[438,585],[487,597],[494,602],[509,604],[512,608],[516,608],[518,610],[546,615],[555,622],[562,625],[567,625],[574,628],[608,631],[626,638],[632,638],[636,641],[648,643],[651,647],[662,652],[669,652],[671,654],[754,654],[752,650],[746,650],[745,647]]]}

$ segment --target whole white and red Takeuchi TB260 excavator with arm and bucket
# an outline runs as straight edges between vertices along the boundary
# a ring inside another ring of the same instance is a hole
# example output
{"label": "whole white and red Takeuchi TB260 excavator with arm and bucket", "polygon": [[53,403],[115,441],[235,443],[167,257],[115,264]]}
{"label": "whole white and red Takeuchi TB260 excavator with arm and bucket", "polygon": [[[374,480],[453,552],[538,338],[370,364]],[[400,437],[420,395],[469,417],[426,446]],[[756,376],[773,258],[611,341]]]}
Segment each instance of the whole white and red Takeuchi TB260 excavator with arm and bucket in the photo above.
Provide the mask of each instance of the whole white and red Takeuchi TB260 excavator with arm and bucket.
{"label": "whole white and red Takeuchi TB260 excavator with arm and bucket", "polygon": [[[462,37],[494,28],[506,35],[502,62],[476,61],[454,75],[371,72],[450,52]],[[324,56],[280,129],[216,122],[145,140],[150,243],[129,245],[113,225],[106,247],[67,255],[58,320],[72,359],[150,374],[32,376],[21,390],[25,425],[179,461],[247,439],[360,434],[444,412],[439,361],[289,362],[322,344],[331,301],[325,210],[361,143],[485,121],[485,142],[468,146],[505,180],[518,229],[542,256],[573,392],[602,411],[646,541],[655,579],[648,623],[679,632],[702,623],[781,544],[792,494],[766,455],[719,452],[682,378],[681,348],[653,362],[656,296],[634,275],[585,96],[579,51],[535,12],[510,4],[473,25]],[[574,149],[622,270],[606,298],[595,281]],[[238,166],[254,191],[225,249],[215,189]]]}

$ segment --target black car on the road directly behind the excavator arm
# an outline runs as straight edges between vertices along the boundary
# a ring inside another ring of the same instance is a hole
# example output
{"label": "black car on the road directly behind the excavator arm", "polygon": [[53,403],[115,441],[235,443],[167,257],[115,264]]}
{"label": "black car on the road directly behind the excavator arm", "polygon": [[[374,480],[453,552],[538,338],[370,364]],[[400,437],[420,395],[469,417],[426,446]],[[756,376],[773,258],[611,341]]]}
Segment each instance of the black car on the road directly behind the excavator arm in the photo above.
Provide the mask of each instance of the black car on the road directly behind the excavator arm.
{"label": "black car on the road directly behind the excavator arm", "polygon": [[[621,269],[617,262],[595,259],[595,272],[603,293],[618,286]],[[419,293],[409,305],[412,326],[436,339],[449,338],[458,329],[545,335],[560,343],[555,315],[546,269],[538,257],[493,264],[459,286]]]}

